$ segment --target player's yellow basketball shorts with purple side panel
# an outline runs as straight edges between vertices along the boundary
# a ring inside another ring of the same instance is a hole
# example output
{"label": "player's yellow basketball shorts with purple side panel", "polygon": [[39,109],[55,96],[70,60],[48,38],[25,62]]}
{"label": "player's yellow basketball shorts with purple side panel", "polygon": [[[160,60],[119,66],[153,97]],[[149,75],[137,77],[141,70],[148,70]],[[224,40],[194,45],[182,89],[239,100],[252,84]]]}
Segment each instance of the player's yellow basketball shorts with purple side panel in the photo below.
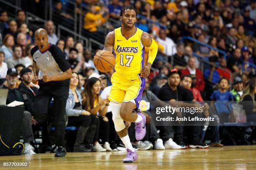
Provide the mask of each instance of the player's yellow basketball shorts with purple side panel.
{"label": "player's yellow basketball shorts with purple side panel", "polygon": [[114,72],[111,82],[110,101],[121,104],[134,100],[138,108],[145,87],[145,78],[141,77],[141,74],[127,75]]}

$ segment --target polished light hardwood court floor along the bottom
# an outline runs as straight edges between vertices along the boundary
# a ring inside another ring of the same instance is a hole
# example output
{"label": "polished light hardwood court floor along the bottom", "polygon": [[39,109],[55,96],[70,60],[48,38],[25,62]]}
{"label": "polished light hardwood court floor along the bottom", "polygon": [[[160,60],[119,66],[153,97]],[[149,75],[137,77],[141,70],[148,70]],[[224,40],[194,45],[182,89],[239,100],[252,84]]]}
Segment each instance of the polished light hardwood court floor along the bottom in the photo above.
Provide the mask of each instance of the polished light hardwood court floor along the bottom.
{"label": "polished light hardwood court floor along the bottom", "polygon": [[125,151],[67,153],[65,158],[54,158],[54,154],[46,153],[5,156],[0,160],[29,161],[29,168],[11,168],[15,170],[256,170],[256,145],[138,151],[138,160],[132,164],[122,163],[125,155]]}

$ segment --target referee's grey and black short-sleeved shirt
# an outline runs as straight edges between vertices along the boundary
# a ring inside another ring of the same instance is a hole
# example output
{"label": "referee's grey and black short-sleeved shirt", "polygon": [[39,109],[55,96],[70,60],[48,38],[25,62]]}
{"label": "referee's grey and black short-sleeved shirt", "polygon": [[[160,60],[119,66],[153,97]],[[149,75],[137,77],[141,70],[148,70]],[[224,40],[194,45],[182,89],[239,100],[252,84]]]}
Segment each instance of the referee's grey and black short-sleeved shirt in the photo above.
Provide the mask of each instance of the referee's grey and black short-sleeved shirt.
{"label": "referee's grey and black short-sleeved shirt", "polygon": [[[36,45],[31,49],[31,55],[43,75],[44,70],[46,70],[49,76],[56,76],[70,68],[69,62],[65,59],[64,52],[56,45],[50,44],[49,48],[44,52],[41,52]],[[69,79],[55,82],[41,82],[41,84],[69,85]]]}

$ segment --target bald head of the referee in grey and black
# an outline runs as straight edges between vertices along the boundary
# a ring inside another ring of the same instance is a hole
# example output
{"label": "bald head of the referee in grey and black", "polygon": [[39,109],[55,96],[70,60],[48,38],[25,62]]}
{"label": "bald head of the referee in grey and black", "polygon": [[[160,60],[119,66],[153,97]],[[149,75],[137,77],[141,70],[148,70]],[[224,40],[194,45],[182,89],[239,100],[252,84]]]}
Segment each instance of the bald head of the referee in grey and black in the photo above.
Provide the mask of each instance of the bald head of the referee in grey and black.
{"label": "bald head of the referee in grey and black", "polygon": [[35,40],[41,51],[46,50],[49,47],[48,43],[48,34],[47,31],[43,28],[39,28],[35,32]]}

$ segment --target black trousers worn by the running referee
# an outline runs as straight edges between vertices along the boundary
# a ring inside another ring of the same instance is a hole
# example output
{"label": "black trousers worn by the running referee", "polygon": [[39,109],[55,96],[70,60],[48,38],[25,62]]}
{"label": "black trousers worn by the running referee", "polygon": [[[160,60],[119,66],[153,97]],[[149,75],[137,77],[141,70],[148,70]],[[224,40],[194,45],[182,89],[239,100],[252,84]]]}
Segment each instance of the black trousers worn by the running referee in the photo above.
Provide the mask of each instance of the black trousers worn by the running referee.
{"label": "black trousers worn by the running referee", "polygon": [[[56,146],[64,146],[68,95],[69,86],[41,85],[34,100],[33,116],[39,124],[43,124],[49,116],[53,118],[52,125],[55,128]],[[49,103],[52,98],[54,98],[54,105],[52,115],[49,115]]]}

